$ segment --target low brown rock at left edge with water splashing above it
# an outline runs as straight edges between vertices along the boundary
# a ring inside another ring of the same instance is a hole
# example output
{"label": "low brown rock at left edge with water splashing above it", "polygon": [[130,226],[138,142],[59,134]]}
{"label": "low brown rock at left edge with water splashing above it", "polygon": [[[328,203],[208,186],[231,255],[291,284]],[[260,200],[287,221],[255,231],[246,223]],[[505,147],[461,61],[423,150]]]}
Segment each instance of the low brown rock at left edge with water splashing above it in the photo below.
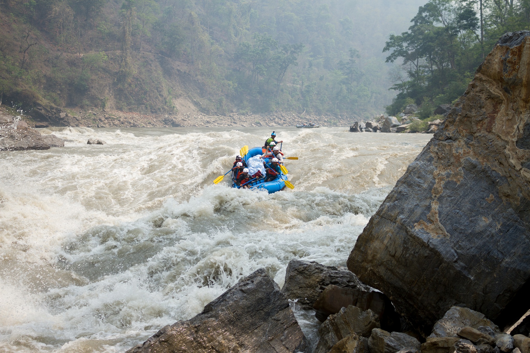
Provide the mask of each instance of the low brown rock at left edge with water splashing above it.
{"label": "low brown rock at left edge with water splashing above it", "polygon": [[[20,117],[18,117],[20,119]],[[13,116],[0,113],[0,151],[47,150],[50,146],[37,130],[16,120]]]}

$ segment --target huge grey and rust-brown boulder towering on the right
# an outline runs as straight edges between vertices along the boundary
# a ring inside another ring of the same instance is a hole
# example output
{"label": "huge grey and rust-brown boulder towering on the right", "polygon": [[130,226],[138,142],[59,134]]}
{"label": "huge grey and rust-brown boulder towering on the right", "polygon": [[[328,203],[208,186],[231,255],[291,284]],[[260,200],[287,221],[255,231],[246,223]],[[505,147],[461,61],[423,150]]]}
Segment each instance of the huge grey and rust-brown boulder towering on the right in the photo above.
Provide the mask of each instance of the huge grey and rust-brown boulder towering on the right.
{"label": "huge grey and rust-brown boulder towering on the right", "polygon": [[530,306],[529,97],[530,32],[507,33],[351,252],[423,334],[453,305],[499,327]]}

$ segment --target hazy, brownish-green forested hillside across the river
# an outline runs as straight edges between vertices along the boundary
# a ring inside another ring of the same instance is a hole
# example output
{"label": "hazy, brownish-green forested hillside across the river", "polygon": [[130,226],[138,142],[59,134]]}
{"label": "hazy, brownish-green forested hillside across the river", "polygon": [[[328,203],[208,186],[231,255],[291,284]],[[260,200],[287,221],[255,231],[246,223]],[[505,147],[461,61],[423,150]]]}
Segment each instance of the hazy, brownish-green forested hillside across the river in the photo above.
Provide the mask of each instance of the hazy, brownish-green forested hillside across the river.
{"label": "hazy, brownish-green forested hillside across the river", "polygon": [[4,103],[365,117],[425,0],[0,0]]}

